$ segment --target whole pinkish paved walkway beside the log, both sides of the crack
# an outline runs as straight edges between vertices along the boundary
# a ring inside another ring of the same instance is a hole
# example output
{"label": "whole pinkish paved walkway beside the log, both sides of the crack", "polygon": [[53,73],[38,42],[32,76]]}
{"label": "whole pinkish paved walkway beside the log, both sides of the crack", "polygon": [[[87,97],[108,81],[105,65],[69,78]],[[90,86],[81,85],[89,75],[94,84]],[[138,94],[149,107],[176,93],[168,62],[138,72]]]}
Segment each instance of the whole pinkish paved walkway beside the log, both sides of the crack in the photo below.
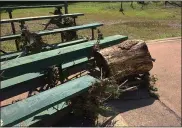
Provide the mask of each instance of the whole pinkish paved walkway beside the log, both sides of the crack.
{"label": "whole pinkish paved walkway beside the log, both sides of the crack", "polygon": [[181,126],[181,38],[151,40],[147,45],[156,59],[151,74],[158,78],[160,100],[144,95],[109,104],[128,126]]}

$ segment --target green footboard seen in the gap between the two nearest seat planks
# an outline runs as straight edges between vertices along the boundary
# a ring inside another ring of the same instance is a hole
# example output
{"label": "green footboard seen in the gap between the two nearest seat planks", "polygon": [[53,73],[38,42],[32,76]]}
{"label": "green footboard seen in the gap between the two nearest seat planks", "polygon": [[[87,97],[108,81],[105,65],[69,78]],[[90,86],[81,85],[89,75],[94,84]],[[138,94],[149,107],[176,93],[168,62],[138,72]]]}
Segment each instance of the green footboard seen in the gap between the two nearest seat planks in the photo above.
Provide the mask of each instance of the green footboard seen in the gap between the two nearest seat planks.
{"label": "green footboard seen in the gap between the two nearest seat planks", "polygon": [[[93,60],[93,58],[91,58],[90,60]],[[80,65],[80,64],[86,63],[88,61],[89,61],[89,59],[87,57],[84,57],[84,58],[81,58],[78,60],[74,60],[74,61],[65,63],[62,65],[62,68],[63,69],[70,68],[72,66]],[[33,80],[35,78],[40,78],[43,75],[44,75],[44,73],[33,72],[33,73],[26,73],[26,74],[23,74],[23,75],[20,75],[17,77],[13,77],[11,79],[1,81],[1,88],[0,89],[5,89],[5,88],[12,87],[14,85],[17,85],[17,84],[20,84],[20,83],[23,83],[26,81]]]}

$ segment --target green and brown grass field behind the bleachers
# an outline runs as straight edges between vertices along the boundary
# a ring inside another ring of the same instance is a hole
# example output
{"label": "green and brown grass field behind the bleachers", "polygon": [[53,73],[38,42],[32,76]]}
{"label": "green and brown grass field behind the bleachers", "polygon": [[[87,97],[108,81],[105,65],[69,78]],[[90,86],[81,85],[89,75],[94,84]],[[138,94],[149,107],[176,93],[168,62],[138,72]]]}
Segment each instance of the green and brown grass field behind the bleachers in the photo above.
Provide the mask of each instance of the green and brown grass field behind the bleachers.
{"label": "green and brown grass field behind the bleachers", "polygon": [[[69,13],[84,13],[77,19],[77,24],[86,24],[93,22],[102,22],[101,32],[104,36],[121,34],[127,35],[129,39],[151,40],[166,37],[181,36],[181,8],[169,7],[164,8],[163,2],[151,3],[141,10],[141,6],[134,2],[135,9],[130,7],[129,2],[123,3],[124,13],[119,12],[120,2],[79,2],[69,5]],[[53,8],[26,9],[13,11],[14,17],[42,16],[49,15]],[[1,18],[8,18],[7,13],[2,13]],[[31,31],[43,29],[43,23],[47,20],[27,22]],[[20,32],[19,24],[16,24]],[[1,36],[11,34],[9,24],[1,25]],[[90,30],[79,31],[81,36],[91,34]],[[44,37],[45,42],[60,42],[60,34]],[[3,50],[15,50],[14,45],[2,43]]]}

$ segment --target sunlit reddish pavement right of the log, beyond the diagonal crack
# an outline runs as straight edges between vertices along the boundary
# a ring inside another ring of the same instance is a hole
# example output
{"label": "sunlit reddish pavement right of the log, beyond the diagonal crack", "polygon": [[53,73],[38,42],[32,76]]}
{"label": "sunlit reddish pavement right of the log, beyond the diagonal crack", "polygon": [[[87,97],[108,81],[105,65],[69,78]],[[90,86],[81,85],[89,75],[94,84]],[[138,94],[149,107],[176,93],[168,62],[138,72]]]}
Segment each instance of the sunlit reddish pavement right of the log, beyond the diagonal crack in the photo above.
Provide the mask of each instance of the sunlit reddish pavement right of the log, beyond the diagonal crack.
{"label": "sunlit reddish pavement right of the log, beyond the diagonal crack", "polygon": [[149,51],[156,58],[151,74],[159,79],[160,100],[181,118],[181,39],[149,42]]}

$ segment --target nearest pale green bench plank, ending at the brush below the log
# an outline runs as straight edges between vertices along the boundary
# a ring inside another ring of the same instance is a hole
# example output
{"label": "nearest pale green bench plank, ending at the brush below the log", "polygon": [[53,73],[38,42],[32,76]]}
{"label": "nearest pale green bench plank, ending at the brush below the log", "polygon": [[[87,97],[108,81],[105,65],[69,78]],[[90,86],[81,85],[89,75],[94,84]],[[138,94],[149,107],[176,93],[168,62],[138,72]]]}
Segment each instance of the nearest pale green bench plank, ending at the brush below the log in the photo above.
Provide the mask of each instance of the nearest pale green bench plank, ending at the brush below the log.
{"label": "nearest pale green bench plank, ending at the brush below the log", "polygon": [[1,108],[3,126],[13,126],[87,90],[97,79],[86,75]]}

